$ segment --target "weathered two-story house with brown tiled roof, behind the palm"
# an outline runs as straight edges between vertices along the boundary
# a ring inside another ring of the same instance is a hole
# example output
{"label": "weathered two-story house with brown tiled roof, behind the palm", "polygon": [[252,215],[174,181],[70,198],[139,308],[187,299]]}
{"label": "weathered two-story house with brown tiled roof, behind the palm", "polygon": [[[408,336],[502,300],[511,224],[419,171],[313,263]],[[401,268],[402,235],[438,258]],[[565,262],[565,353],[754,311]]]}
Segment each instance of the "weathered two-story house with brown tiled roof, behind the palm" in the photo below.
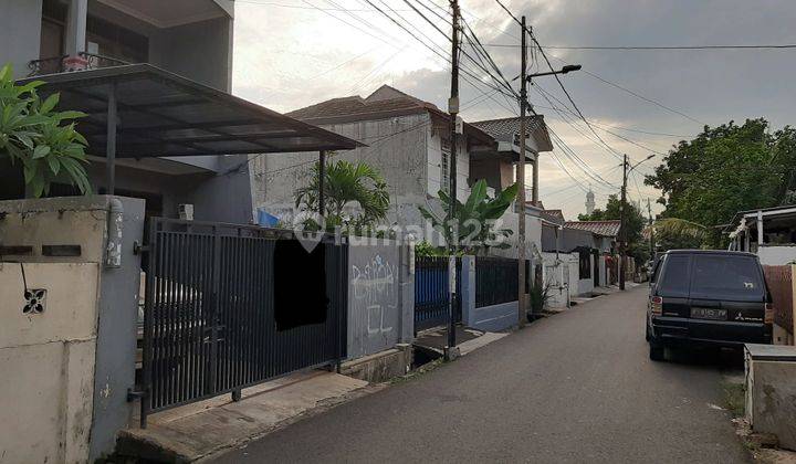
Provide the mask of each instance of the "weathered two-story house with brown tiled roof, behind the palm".
{"label": "weathered two-story house with brown tiled roof, behind the palm", "polygon": [[[362,161],[380,171],[390,192],[388,225],[422,225],[418,205],[433,203],[439,190],[449,191],[450,118],[433,104],[385,85],[365,98],[333,98],[286,115],[365,145],[333,154],[329,162]],[[457,198],[465,201],[472,154],[494,150],[496,144],[467,123],[458,143]],[[255,207],[290,222],[295,190],[308,182],[315,160],[313,154],[255,157],[250,167]]]}

